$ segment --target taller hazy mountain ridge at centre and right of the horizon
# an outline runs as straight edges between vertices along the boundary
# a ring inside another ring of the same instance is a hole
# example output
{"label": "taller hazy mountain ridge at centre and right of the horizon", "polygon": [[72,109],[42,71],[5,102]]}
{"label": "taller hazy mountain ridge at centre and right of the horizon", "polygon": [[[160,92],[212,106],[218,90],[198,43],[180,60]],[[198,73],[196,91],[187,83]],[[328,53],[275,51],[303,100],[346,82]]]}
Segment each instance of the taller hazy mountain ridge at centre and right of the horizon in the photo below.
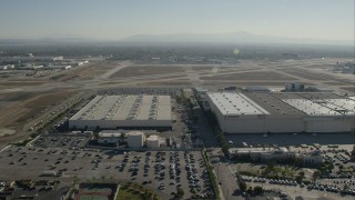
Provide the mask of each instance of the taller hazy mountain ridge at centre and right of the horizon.
{"label": "taller hazy mountain ridge at centre and right of the horizon", "polygon": [[320,40],[310,38],[287,38],[277,36],[262,36],[250,32],[232,32],[219,34],[136,34],[121,39],[126,43],[315,43],[315,44],[339,44],[354,46],[354,41]]}

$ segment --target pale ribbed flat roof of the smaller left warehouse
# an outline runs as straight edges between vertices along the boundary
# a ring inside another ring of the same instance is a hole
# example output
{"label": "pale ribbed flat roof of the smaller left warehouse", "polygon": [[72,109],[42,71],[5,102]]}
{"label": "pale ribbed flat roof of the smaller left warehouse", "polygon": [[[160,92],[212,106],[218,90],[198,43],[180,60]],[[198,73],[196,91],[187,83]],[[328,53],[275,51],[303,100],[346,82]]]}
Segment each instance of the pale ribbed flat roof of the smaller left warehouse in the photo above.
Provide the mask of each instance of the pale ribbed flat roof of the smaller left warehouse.
{"label": "pale ribbed flat roof of the smaller left warehouse", "polygon": [[71,120],[171,120],[170,96],[98,96]]}

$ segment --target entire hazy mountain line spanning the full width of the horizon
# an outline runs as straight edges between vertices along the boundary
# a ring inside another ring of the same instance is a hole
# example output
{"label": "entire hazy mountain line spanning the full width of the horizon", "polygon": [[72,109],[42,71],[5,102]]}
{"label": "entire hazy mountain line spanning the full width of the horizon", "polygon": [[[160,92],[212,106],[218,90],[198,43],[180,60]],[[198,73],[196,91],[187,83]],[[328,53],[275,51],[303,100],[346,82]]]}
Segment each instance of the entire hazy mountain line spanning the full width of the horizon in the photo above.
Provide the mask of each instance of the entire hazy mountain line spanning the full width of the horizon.
{"label": "entire hazy mountain line spanning the full width of the horizon", "polygon": [[121,40],[90,39],[80,36],[49,36],[37,39],[0,39],[0,44],[159,44],[159,43],[225,43],[225,44],[333,44],[333,46],[354,46],[354,41],[342,40],[320,40],[310,38],[287,38],[277,36],[262,36],[250,32],[231,32],[217,34],[194,34],[194,33],[174,33],[174,34],[135,34]]}

